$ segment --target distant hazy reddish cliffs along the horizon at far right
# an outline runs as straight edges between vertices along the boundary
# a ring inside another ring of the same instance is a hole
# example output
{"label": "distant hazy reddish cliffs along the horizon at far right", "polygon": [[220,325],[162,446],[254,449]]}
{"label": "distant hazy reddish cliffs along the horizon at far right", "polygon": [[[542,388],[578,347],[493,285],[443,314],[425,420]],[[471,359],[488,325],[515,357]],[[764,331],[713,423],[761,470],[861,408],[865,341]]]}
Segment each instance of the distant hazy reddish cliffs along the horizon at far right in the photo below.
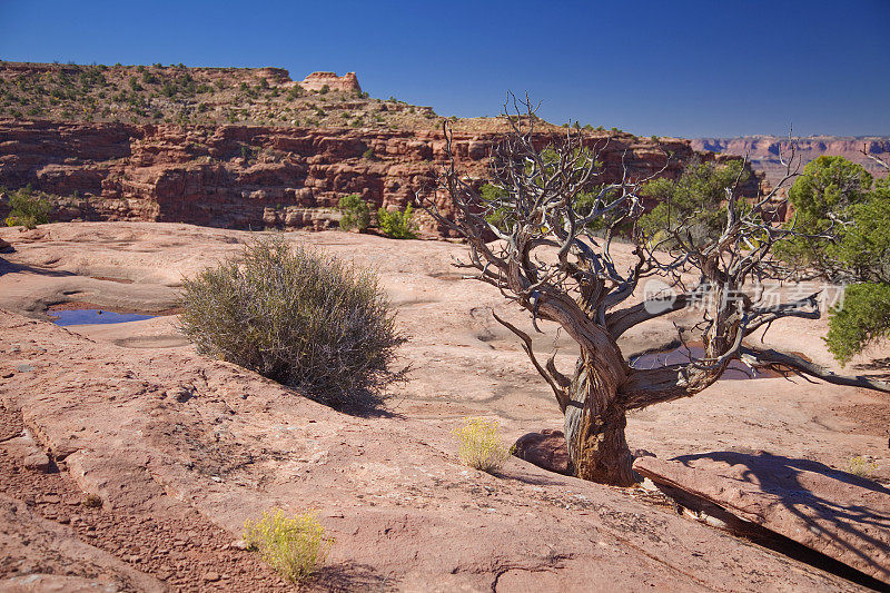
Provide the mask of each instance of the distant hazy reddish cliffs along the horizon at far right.
{"label": "distant hazy reddish cliffs along the horizon at far right", "polygon": [[[844,157],[862,165],[872,175],[886,175],[862,151],[876,155],[884,160],[890,156],[890,138],[842,138],[837,136],[817,136],[811,138],[795,138],[798,155],[802,165],[815,160],[822,155]],[[785,172],[785,167],[780,162],[780,156],[788,158],[790,142],[788,138],[778,136],[744,136],[741,138],[696,138],[692,140],[695,150],[711,150],[723,155],[743,157],[749,155],[751,164],[756,170],[762,170],[768,181],[775,185]]]}

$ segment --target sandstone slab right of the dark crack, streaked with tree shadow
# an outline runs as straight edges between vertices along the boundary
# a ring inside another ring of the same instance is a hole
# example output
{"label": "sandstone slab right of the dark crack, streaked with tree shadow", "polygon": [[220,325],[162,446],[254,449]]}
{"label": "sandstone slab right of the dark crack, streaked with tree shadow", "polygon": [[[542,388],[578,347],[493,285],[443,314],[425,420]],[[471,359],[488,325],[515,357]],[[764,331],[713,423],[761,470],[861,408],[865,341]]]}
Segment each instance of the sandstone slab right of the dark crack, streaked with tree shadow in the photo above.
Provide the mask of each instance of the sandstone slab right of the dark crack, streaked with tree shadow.
{"label": "sandstone slab right of the dark crack, streaked with tree shadow", "polygon": [[890,584],[890,490],[810,459],[714,452],[634,470]]}

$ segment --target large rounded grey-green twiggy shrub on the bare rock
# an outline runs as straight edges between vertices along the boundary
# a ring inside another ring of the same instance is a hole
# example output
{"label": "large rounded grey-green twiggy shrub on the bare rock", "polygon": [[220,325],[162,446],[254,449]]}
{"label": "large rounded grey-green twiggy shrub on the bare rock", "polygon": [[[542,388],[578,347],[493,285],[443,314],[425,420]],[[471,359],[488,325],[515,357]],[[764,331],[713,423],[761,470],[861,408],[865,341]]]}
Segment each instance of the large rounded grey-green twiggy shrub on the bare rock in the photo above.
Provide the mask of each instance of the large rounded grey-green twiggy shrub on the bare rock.
{"label": "large rounded grey-green twiggy shrub on the bare rock", "polygon": [[377,278],[281,236],[184,284],[180,329],[207,354],[332,405],[367,405],[403,373],[405,339]]}

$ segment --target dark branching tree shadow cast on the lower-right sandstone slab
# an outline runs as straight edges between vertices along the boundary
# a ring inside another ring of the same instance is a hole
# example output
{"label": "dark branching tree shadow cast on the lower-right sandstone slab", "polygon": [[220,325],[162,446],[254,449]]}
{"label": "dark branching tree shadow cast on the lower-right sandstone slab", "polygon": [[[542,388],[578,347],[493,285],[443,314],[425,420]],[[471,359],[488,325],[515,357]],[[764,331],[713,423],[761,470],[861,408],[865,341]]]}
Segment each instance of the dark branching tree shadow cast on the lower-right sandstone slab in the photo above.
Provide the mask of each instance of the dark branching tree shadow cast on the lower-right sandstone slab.
{"label": "dark branching tree shadow cast on the lower-right sandstone slab", "polygon": [[[877,514],[874,510],[861,505],[844,505],[824,497],[823,493],[814,493],[803,483],[801,474],[803,472],[819,474],[840,484],[849,484],[883,495],[890,495],[890,490],[871,480],[833,470],[819,462],[763,452],[759,454],[713,452],[673,458],[693,468],[693,462],[696,459],[743,466],[745,470],[740,480],[756,485],[767,495],[774,496],[778,505],[795,516],[811,532],[830,541],[832,546],[854,554],[861,563],[873,566],[877,572],[886,575],[886,580],[890,580],[889,567],[882,566],[869,554],[851,544],[851,541],[859,540],[880,550],[884,544],[869,535],[862,526],[870,525],[880,531],[890,531],[890,516]],[[833,490],[831,483],[824,490],[831,492]],[[825,530],[819,522],[830,523],[832,530]]]}

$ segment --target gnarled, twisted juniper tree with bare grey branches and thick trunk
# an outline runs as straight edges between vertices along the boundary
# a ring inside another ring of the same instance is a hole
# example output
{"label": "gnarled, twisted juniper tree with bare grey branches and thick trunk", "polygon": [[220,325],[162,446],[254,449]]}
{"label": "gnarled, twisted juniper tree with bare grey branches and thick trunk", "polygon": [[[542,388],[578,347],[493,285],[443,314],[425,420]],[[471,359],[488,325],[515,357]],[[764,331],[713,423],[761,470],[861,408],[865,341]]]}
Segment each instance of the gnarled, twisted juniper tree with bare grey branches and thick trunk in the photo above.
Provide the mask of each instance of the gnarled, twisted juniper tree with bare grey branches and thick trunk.
{"label": "gnarled, twisted juniper tree with bare grey branches and thick trunk", "polygon": [[[436,191],[453,213],[443,214],[429,195],[421,201],[439,224],[467,239],[469,259],[458,265],[475,268],[479,280],[527,309],[535,329],[537,319],[552,320],[577,343],[581,355],[570,377],[556,368],[555,354],[542,364],[530,336],[495,315],[522,339],[553,389],[565,415],[575,475],[614,485],[634,483],[624,436],[626,413],[690,397],[718,380],[732,360],[890,391],[888,383],[838,376],[795,355],[745,343],[784,317],[820,317],[818,293],[772,304],[762,290],[751,289],[795,271],[772,255],[795,233],[775,214],[783,201],[778,189],[795,175],[793,155],[782,184],[753,204],[738,197],[738,182],[726,188],[722,231],[696,233],[692,213],[655,237],[645,236],[636,223],[644,214],[640,189],[649,179],[632,179],[625,168],[620,181],[603,184],[597,160],[602,146],[590,146],[580,132],[568,130],[541,149],[533,106],[514,98],[513,107],[516,116],[506,118],[512,131],[491,156],[490,182],[500,189],[496,195],[483,195],[477,182],[457,170],[446,125],[451,165]],[[614,257],[620,231],[634,240],[626,269]],[[666,290],[641,300],[641,281],[655,278]],[[701,315],[694,332],[703,355],[660,368],[634,368],[617,345],[622,334],[682,309]]]}

